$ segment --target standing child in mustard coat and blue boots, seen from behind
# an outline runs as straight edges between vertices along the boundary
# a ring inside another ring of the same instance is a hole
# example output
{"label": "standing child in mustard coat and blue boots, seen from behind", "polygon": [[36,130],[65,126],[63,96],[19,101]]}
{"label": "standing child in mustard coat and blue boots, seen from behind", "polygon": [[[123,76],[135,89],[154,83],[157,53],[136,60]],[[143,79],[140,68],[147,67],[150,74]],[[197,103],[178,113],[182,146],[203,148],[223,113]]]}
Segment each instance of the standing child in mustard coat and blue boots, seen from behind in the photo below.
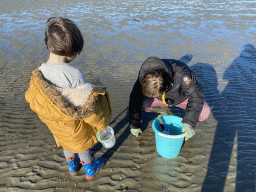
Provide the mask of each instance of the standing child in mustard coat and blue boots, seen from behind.
{"label": "standing child in mustard coat and blue boots, seen from behind", "polygon": [[32,72],[26,101],[62,146],[70,173],[75,175],[82,164],[86,178],[92,179],[104,165],[90,148],[97,143],[96,132],[110,122],[108,92],[86,83],[83,72],[68,64],[84,43],[72,21],[48,19],[45,43],[50,56]]}

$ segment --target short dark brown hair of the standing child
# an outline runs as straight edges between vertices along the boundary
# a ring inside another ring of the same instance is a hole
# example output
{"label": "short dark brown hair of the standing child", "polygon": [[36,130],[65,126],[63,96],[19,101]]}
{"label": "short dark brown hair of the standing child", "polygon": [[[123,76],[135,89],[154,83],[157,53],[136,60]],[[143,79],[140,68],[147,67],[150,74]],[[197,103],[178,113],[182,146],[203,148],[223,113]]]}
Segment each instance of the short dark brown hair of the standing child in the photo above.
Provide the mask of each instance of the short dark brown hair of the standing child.
{"label": "short dark brown hair of the standing child", "polygon": [[80,54],[84,46],[84,39],[76,24],[71,20],[51,17],[47,20],[45,43],[51,53],[72,57]]}

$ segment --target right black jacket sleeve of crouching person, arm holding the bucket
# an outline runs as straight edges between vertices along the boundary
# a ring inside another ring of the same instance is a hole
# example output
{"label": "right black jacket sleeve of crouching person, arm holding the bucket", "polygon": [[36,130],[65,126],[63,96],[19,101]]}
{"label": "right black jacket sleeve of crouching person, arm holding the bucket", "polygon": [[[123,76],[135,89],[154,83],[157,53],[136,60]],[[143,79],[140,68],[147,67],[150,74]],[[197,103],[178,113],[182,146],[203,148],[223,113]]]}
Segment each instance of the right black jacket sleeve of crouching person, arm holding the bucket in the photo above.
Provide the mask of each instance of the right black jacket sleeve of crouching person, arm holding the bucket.
{"label": "right black jacket sleeve of crouching person, arm holding the bucket", "polygon": [[203,108],[204,94],[194,75],[191,77],[191,83],[189,85],[183,83],[181,89],[188,96],[188,104],[182,122],[195,127]]}

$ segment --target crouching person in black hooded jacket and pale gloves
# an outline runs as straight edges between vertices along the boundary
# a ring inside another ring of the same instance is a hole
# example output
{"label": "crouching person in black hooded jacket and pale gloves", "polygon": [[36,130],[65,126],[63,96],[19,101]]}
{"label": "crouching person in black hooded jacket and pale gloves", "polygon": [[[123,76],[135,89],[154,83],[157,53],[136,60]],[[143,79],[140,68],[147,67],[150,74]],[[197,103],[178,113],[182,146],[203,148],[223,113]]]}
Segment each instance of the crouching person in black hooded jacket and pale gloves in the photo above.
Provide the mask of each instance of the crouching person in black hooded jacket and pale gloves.
{"label": "crouching person in black hooded jacket and pale gloves", "polygon": [[194,136],[196,122],[204,121],[210,115],[198,80],[185,63],[149,57],[142,64],[130,95],[131,133],[136,137],[142,133],[141,109],[151,112],[155,107],[168,106],[185,109],[182,131],[188,133],[186,141]]}

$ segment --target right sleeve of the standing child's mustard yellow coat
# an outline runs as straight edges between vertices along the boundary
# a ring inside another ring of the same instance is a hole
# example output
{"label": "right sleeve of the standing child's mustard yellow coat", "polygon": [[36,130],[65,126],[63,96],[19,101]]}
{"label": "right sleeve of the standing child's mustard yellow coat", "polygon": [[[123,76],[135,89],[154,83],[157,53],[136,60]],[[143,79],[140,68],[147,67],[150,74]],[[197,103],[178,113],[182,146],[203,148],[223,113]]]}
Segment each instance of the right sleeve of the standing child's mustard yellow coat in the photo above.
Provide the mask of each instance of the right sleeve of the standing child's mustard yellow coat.
{"label": "right sleeve of the standing child's mustard yellow coat", "polygon": [[86,117],[84,121],[93,128],[103,131],[109,125],[112,116],[109,94],[107,91],[101,93],[94,92],[92,94],[97,95],[95,108],[93,109],[93,113]]}

